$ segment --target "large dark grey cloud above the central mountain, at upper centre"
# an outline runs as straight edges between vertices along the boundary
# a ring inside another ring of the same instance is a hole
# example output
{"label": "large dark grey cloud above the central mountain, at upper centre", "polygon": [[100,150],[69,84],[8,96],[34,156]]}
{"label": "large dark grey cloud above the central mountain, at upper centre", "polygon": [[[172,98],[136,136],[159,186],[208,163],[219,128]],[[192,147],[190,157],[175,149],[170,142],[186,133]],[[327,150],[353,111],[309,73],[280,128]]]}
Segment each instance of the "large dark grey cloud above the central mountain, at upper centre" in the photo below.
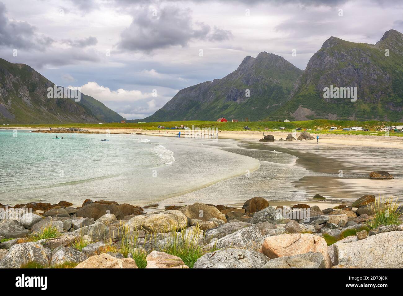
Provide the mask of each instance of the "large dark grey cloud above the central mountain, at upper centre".
{"label": "large dark grey cloud above the central mountain, at upper centre", "polygon": [[121,33],[118,47],[152,52],[169,46],[185,47],[191,40],[222,41],[231,37],[231,31],[193,22],[189,9],[166,6],[155,11],[137,10],[130,26]]}

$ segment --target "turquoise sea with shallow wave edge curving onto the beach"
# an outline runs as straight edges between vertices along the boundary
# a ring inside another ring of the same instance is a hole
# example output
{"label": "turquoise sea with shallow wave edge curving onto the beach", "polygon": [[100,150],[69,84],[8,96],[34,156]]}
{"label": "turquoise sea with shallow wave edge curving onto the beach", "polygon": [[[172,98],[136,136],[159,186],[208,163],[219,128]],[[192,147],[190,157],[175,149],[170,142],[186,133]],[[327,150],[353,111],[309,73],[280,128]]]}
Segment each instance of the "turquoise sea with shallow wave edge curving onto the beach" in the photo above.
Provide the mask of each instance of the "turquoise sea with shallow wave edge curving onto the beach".
{"label": "turquoise sea with shallow wave edge curving onto the beach", "polygon": [[85,199],[144,205],[260,166],[256,159],[214,147],[212,140],[74,133],[55,139],[28,130],[13,135],[0,130],[0,203],[10,205],[61,200],[81,205]]}

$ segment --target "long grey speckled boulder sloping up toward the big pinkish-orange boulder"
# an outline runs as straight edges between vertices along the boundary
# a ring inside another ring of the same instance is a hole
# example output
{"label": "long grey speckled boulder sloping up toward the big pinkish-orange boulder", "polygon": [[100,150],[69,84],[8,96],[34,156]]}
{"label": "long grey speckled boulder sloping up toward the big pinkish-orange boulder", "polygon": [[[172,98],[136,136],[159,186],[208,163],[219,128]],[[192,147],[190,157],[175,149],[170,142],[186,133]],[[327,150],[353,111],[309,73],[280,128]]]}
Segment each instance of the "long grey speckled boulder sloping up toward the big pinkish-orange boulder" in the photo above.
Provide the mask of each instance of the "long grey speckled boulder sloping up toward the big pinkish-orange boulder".
{"label": "long grey speckled boulder sloping up toward the big pinkish-orange boulder", "polygon": [[256,226],[242,228],[223,238],[212,239],[209,244],[203,247],[203,250],[211,250],[212,248],[239,247],[244,248],[250,242],[262,237],[260,230]]}

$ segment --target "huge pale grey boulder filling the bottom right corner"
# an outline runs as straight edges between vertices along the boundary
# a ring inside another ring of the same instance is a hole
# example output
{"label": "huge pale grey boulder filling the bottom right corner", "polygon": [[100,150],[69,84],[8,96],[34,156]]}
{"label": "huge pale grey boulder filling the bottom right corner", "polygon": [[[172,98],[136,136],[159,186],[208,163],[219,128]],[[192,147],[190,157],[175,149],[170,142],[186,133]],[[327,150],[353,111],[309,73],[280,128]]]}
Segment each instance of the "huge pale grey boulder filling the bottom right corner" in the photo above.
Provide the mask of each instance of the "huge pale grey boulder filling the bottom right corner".
{"label": "huge pale grey boulder filling the bottom right corner", "polygon": [[383,232],[355,242],[336,244],[336,264],[359,268],[403,268],[403,232]]}

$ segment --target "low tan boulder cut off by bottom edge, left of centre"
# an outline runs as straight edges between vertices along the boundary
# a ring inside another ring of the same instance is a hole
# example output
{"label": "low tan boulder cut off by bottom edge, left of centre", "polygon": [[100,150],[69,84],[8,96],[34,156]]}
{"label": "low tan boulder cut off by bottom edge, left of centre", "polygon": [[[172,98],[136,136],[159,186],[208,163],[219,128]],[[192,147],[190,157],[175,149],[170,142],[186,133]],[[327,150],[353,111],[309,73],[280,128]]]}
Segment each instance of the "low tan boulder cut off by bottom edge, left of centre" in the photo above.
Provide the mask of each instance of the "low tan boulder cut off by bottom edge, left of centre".
{"label": "low tan boulder cut off by bottom edge, left of centre", "polygon": [[119,259],[109,254],[91,256],[74,268],[138,268],[133,258]]}

